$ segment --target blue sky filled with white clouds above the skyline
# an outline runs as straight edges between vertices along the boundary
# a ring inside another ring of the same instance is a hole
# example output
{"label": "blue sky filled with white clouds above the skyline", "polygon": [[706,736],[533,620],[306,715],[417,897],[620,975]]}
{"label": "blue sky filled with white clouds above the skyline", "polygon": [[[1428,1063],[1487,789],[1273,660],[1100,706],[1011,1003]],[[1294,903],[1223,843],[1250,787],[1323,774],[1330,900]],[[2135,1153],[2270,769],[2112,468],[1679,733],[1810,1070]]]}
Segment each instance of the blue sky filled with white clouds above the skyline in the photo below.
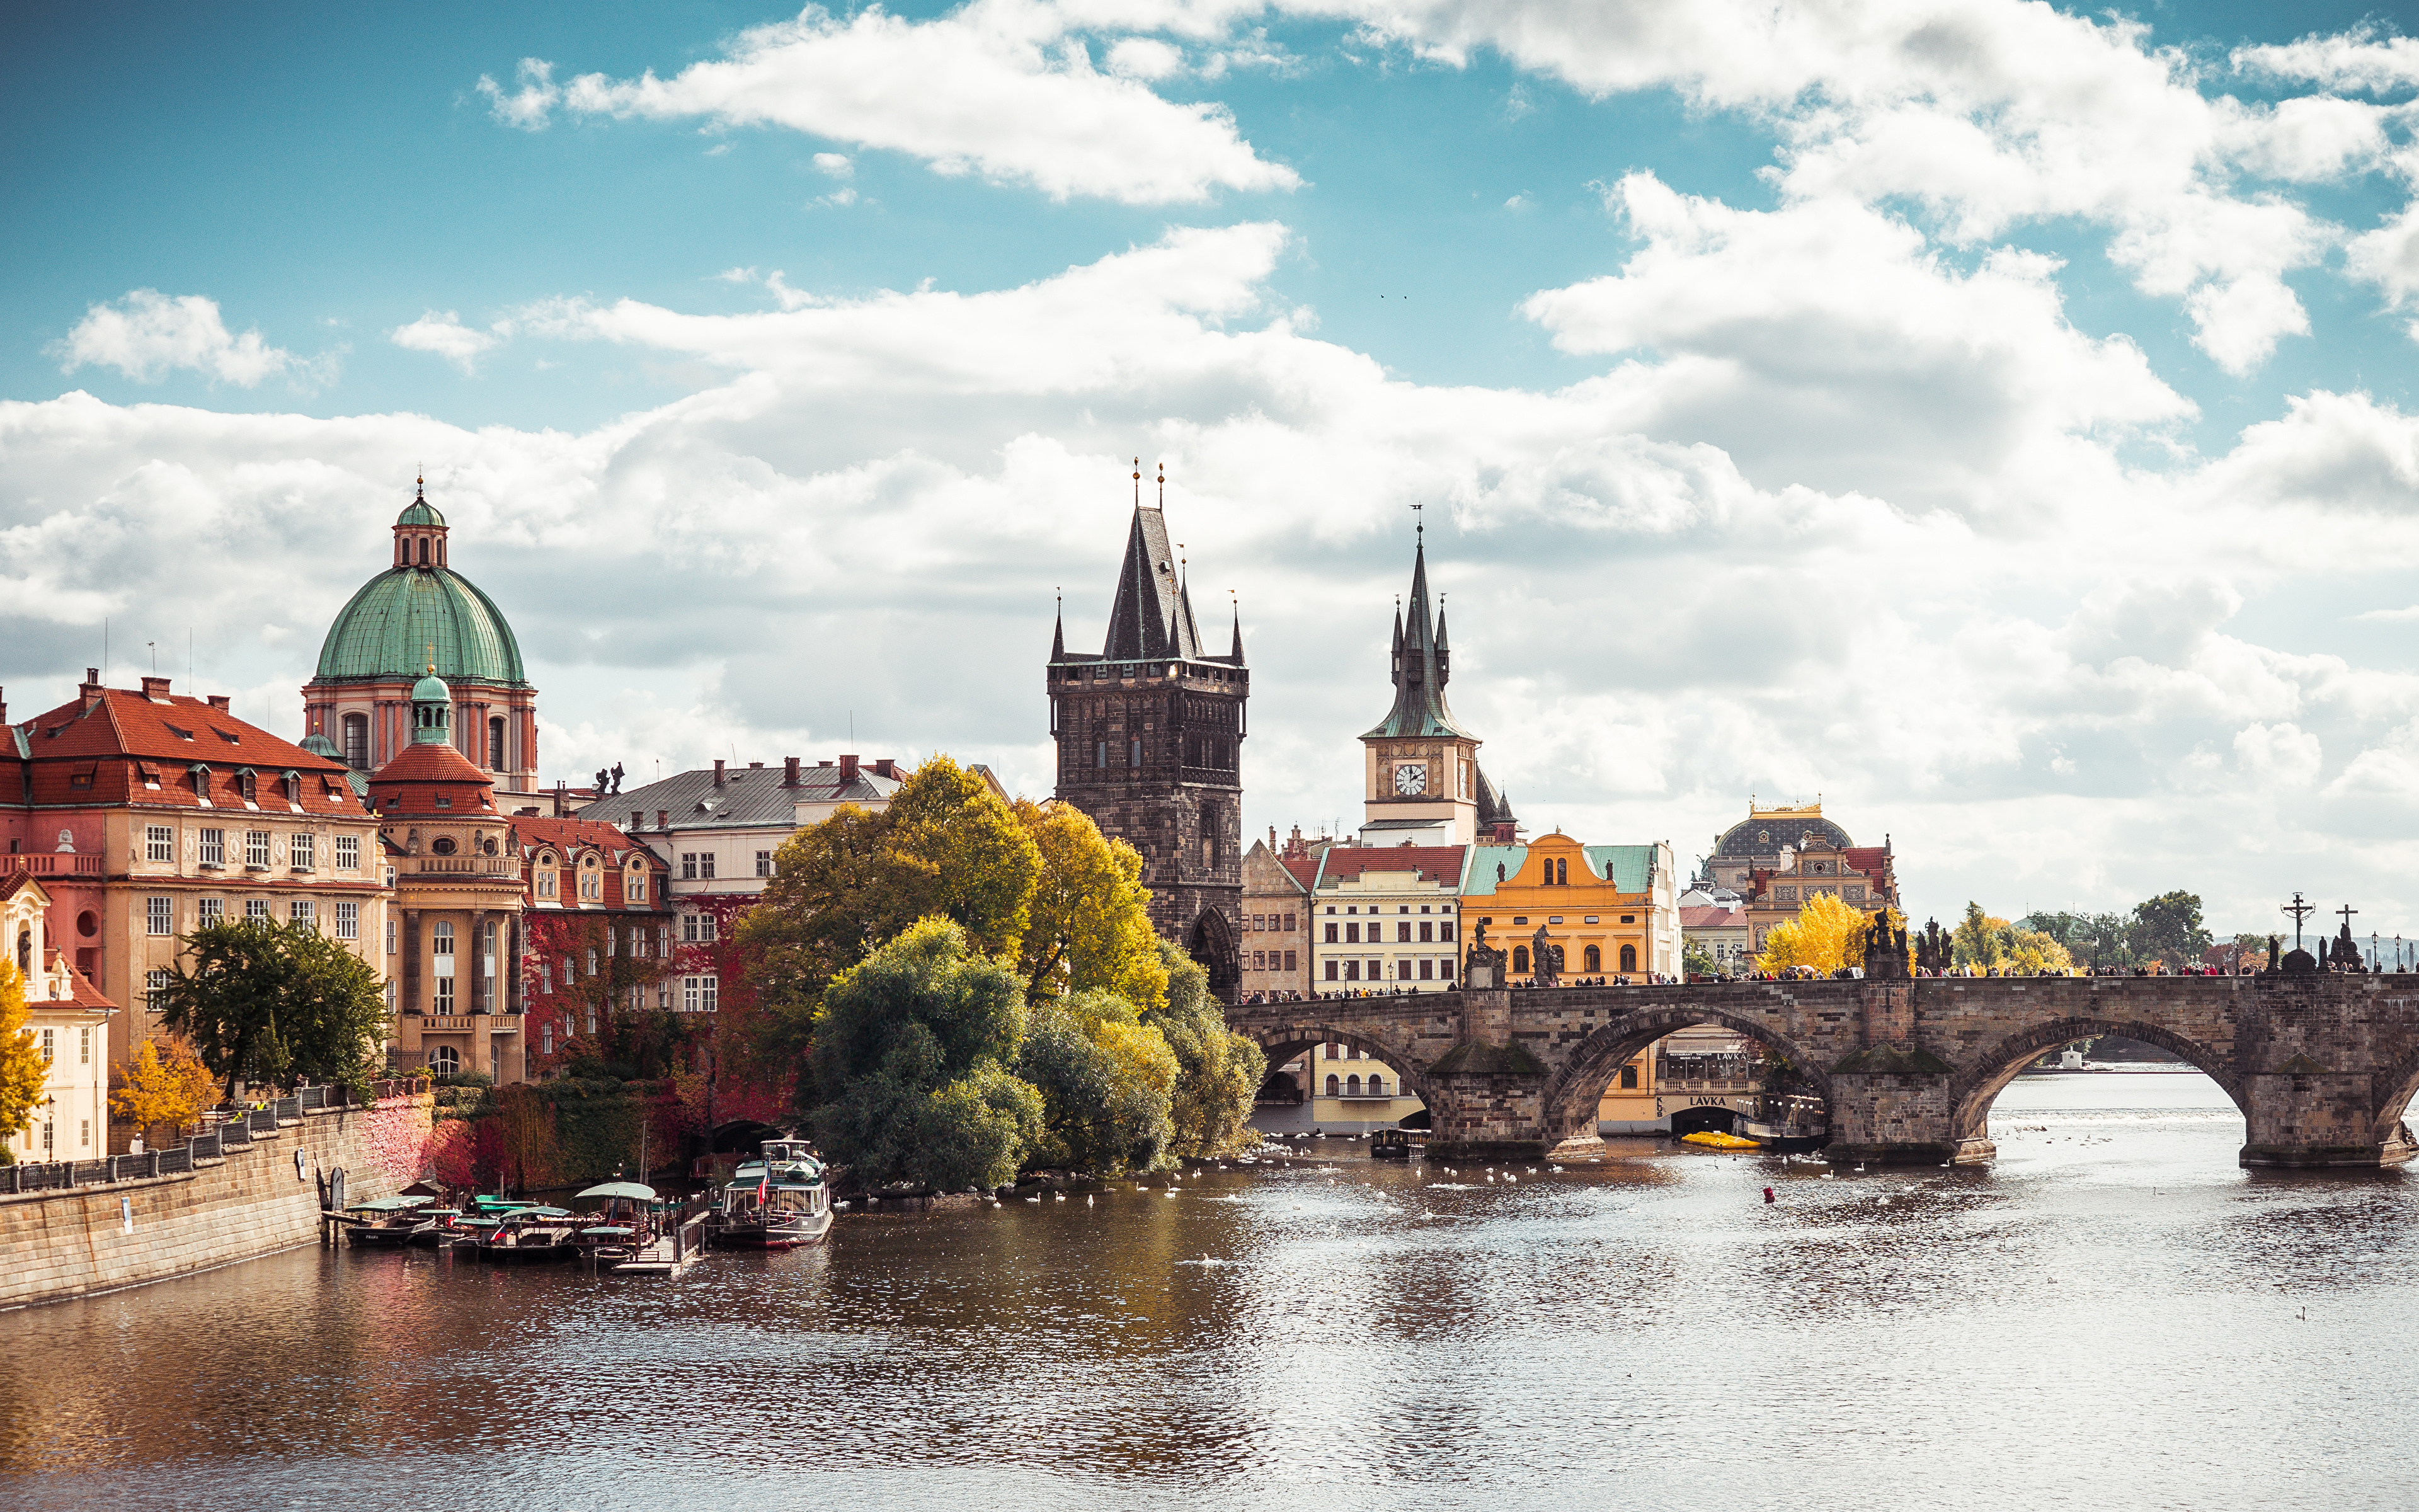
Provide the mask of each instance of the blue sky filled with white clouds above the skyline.
{"label": "blue sky filled with white clouds above the skyline", "polygon": [[1534,832],[1819,796],[1918,919],[2419,936],[2409,22],[17,7],[0,689],[298,735],[426,472],[547,781],[1038,796],[1139,457],[1243,619],[1246,835],[1357,820],[1422,520]]}

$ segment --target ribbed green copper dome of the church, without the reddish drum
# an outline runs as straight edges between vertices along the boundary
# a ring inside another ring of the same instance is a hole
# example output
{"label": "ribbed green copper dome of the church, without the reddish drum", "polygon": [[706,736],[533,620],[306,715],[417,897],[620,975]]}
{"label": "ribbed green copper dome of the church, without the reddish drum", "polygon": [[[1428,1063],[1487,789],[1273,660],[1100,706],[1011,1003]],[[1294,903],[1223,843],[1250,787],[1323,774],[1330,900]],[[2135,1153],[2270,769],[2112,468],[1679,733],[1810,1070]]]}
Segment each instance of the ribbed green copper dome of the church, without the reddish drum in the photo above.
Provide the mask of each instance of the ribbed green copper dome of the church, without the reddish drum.
{"label": "ribbed green copper dome of the church, without the reddish drum", "polygon": [[445,566],[387,569],[363,583],[327,627],[314,682],[418,680],[428,663],[448,682],[527,687],[503,612]]}

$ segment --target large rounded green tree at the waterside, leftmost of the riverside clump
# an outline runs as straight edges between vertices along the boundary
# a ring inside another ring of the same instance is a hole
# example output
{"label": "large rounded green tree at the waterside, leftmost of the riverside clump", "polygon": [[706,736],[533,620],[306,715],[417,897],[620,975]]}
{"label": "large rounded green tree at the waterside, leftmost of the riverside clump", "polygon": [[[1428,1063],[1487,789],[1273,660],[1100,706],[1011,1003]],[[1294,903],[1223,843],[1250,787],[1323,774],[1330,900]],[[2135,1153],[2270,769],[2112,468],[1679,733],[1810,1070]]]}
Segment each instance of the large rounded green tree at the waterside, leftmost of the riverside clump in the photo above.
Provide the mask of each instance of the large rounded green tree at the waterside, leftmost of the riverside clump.
{"label": "large rounded green tree at the waterside, leftmost of the riverside clump", "polygon": [[922,919],[822,992],[815,1135],[866,1185],[1001,1185],[1043,1135],[1040,1091],[1006,1069],[1023,1031],[1018,975]]}

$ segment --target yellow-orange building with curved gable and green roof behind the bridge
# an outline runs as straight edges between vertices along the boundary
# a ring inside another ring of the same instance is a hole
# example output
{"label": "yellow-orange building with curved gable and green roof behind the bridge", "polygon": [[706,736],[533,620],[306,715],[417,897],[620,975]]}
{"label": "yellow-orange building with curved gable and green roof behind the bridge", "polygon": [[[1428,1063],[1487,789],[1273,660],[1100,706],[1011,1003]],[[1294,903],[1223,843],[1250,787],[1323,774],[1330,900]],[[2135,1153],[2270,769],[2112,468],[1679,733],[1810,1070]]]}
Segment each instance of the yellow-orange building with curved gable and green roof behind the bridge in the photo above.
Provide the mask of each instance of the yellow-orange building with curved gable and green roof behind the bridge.
{"label": "yellow-orange building with curved gable and green roof behind the bridge", "polygon": [[1468,939],[1505,951],[1505,982],[1536,980],[1538,936],[1563,948],[1563,982],[1679,977],[1679,871],[1672,844],[1580,844],[1555,830],[1529,844],[1471,847],[1461,883]]}

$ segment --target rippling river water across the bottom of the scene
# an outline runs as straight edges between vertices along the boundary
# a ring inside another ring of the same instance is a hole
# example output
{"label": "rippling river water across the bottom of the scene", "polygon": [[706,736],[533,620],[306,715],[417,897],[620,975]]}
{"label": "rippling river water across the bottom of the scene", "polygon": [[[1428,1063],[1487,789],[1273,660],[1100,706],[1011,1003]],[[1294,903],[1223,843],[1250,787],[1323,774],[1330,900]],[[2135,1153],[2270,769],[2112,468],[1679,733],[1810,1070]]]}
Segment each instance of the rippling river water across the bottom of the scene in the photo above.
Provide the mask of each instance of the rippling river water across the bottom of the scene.
{"label": "rippling river water across the bottom of the scene", "polygon": [[[295,1251],[0,1323],[27,1507],[2402,1507],[2419,1181],[2199,1074],[1988,1168],[1635,1142],[842,1219],[677,1282]],[[1763,1202],[1763,1188],[1776,1202]]]}

